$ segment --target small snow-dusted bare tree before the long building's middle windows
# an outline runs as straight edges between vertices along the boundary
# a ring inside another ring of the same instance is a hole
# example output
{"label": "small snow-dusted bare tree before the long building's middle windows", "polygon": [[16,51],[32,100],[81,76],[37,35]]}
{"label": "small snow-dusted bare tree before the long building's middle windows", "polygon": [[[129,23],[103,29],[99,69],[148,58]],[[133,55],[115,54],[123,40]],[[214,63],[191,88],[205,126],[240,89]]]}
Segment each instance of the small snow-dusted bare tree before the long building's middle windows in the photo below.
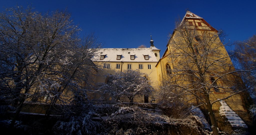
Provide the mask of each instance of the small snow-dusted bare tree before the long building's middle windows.
{"label": "small snow-dusted bare tree before the long building's middle windows", "polygon": [[110,94],[116,101],[121,96],[126,96],[130,103],[136,95],[144,96],[152,94],[152,87],[148,84],[150,80],[146,74],[139,70],[125,70],[124,72],[116,72],[115,75],[109,75],[106,84],[102,88],[104,93]]}

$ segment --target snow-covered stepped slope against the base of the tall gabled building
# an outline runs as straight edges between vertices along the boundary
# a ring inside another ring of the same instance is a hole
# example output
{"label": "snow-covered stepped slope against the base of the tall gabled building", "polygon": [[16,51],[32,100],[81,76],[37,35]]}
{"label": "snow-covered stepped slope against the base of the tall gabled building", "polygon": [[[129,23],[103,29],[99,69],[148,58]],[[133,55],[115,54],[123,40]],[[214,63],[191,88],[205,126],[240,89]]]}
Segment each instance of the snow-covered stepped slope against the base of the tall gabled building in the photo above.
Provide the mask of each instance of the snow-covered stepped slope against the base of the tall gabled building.
{"label": "snow-covered stepped slope against the base of the tall gabled building", "polygon": [[221,100],[220,104],[219,114],[221,116],[225,116],[232,127],[248,128],[243,120],[228,106],[225,101]]}

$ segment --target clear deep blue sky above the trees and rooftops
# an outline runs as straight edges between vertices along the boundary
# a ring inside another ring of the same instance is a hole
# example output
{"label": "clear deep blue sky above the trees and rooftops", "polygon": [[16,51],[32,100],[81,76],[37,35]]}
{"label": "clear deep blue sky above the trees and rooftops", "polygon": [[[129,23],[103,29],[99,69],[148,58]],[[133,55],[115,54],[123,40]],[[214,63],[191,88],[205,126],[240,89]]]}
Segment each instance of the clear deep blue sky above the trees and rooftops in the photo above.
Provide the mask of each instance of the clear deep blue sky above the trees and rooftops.
{"label": "clear deep blue sky above the trees and rooftops", "polygon": [[256,34],[256,1],[124,1],[124,0],[1,0],[0,11],[13,6],[31,4],[36,11],[65,10],[72,15],[75,24],[82,28],[82,35],[94,32],[103,48],[137,48],[150,46],[150,34],[154,45],[166,49],[169,34],[175,20],[183,18],[186,9],[204,18],[212,27],[222,29],[230,41],[246,40]]}

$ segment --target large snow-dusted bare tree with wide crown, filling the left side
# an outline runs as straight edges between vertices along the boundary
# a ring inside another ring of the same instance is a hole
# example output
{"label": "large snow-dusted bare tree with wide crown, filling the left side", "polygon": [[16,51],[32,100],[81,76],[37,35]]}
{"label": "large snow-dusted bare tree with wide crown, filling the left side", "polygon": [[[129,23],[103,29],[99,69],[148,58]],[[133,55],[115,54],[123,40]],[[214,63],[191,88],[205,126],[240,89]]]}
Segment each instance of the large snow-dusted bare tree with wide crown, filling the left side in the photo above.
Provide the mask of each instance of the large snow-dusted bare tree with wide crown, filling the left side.
{"label": "large snow-dusted bare tree with wide crown, filling the left side", "polygon": [[88,73],[97,67],[90,61],[96,49],[88,49],[99,44],[93,35],[81,41],[79,31],[67,11],[41,15],[29,6],[0,14],[1,98],[17,108],[12,125],[25,101],[44,101],[51,108],[85,90]]}

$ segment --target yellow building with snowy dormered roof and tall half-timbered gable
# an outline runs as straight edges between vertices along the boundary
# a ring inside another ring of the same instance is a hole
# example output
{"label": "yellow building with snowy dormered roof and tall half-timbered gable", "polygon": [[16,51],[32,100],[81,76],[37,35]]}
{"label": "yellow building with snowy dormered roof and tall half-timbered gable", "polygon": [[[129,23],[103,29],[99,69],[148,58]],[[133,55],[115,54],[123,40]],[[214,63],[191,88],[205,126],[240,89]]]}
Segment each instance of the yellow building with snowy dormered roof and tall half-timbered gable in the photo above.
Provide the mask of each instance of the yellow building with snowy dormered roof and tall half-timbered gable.
{"label": "yellow building with snowy dormered roof and tall half-timbered gable", "polygon": [[[188,11],[185,17],[183,18],[182,22],[187,24],[189,26],[189,29],[195,30],[194,32],[200,35],[201,38],[207,37],[206,35],[216,37],[214,40],[209,39],[209,42],[212,42],[211,43],[212,46],[209,48],[214,48],[215,46],[217,46],[217,44],[222,44],[220,38],[218,37],[218,34],[216,34],[218,31],[213,27],[211,27],[210,24],[208,24],[203,18]],[[174,30],[172,36],[170,37],[170,40],[172,38],[176,38],[179,35],[180,33]],[[193,40],[191,40],[191,42],[193,42],[193,44],[196,44],[196,42],[198,41],[196,41],[196,39],[194,38]],[[173,69],[177,67],[177,61],[182,61],[182,60],[180,60],[180,57],[173,56],[173,52],[178,52],[179,50],[177,48],[173,48],[173,46],[171,45],[172,44],[171,42],[168,42],[168,44],[166,45],[166,50],[162,58],[160,58],[159,56],[160,50],[154,46],[152,39],[150,43],[151,43],[150,48],[105,48],[105,50],[103,48],[103,50],[99,52],[99,56],[95,59],[100,59],[100,56],[104,56],[104,59],[95,60],[94,63],[101,65],[102,67],[102,70],[100,71],[101,75],[105,75],[107,73],[114,74],[114,72],[122,72],[127,69],[132,69],[132,70],[138,69],[141,72],[146,73],[148,75],[148,79],[151,80],[150,85],[157,91],[158,84],[160,84],[163,79],[166,79],[169,76],[168,71],[166,70],[166,65],[168,64],[170,69]],[[184,42],[184,44],[186,43]],[[194,46],[194,47],[196,48],[197,46]],[[228,63],[229,66],[225,67],[225,66],[220,66],[218,64],[211,66],[213,68],[212,68],[211,74],[208,75],[209,81],[212,81],[211,80],[212,78],[210,77],[213,76],[213,74],[230,72],[234,70],[232,62],[223,44],[222,46],[218,46],[217,48],[218,48],[217,50],[219,51],[218,53],[221,54],[220,57],[222,58],[222,62]],[[186,52],[186,49],[187,48],[185,48],[185,50],[183,51]],[[201,57],[199,55],[199,53],[201,53],[200,50],[193,50],[193,51],[196,52],[196,54],[198,54],[198,57]],[[144,59],[145,57],[143,58],[143,56],[145,55],[148,55],[150,57],[149,58],[150,60],[145,60]],[[121,59],[118,60],[117,59],[118,56],[121,56]],[[131,60],[132,56],[135,56],[134,60]],[[217,60],[220,58],[218,56],[216,57],[216,55],[208,55],[208,57],[211,60]],[[106,64],[105,66],[107,67],[105,67],[104,64]],[[117,64],[120,65],[120,68],[118,68]],[[186,64],[191,65],[189,63],[186,63]],[[140,65],[142,65],[143,67],[142,69],[140,69]],[[151,65],[151,69],[148,68],[148,65]],[[217,77],[215,77],[214,79],[216,78]],[[104,82],[104,79],[101,80],[101,82]],[[234,75],[227,75],[226,79],[216,80],[216,85],[219,84],[219,85],[225,86],[226,87],[225,90],[228,91],[229,89],[231,89],[232,83],[236,83],[236,82],[239,82],[242,85],[242,81],[239,77],[236,77]],[[180,81],[179,83],[188,83],[188,82]],[[210,93],[210,100],[216,101],[217,99],[222,99],[224,97],[229,96],[230,93],[224,92],[225,90],[223,90],[223,88],[219,88],[218,89],[219,92],[218,91],[215,92],[214,88],[211,88],[211,91],[214,91],[214,92]],[[244,97],[241,95],[242,94],[237,94],[237,95],[231,96],[228,99],[225,99],[226,103],[231,107],[231,109],[233,109],[233,111],[244,111],[244,112],[246,111],[244,107],[245,106]],[[141,99],[140,97],[138,97],[134,101],[144,102],[143,97],[141,97]],[[195,100],[191,100],[190,102],[195,102]],[[212,108],[214,110],[219,110],[220,105],[221,104],[219,102],[216,102],[215,104],[212,105]]]}

